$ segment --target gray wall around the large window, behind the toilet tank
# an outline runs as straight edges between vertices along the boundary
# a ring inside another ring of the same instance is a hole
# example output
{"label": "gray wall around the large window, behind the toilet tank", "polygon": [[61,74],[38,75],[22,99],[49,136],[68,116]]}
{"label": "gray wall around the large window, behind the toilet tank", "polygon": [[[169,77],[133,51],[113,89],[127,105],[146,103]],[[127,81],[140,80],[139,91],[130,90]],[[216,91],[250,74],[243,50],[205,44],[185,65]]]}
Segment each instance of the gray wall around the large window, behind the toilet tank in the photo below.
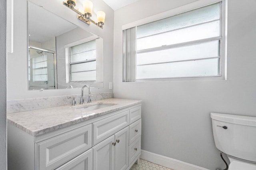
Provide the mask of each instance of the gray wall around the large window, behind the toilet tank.
{"label": "gray wall around the large window, behind the toilet tank", "polygon": [[114,97],[143,100],[143,150],[214,170],[225,165],[210,112],[256,115],[255,0],[228,1],[227,80],[122,82],[122,25],[192,1],[140,0],[115,11]]}

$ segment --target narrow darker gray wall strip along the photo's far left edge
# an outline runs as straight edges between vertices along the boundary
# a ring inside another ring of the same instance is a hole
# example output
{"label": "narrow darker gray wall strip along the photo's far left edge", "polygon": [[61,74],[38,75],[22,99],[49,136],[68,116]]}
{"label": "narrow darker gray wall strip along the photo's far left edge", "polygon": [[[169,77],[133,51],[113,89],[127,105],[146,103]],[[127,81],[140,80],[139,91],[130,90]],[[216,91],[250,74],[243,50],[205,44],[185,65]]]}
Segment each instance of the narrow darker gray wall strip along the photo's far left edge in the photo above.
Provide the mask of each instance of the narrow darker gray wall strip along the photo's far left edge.
{"label": "narrow darker gray wall strip along the photo's far left edge", "polygon": [[0,2],[0,169],[6,170],[6,0]]}

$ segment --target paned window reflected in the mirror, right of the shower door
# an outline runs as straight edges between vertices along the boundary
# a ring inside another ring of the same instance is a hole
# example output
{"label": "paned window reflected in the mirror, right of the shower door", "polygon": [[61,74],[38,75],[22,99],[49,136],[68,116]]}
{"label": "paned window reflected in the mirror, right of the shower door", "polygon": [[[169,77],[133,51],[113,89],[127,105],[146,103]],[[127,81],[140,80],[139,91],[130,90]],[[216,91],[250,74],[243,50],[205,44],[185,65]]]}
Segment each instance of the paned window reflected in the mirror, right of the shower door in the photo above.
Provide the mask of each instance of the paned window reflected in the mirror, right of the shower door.
{"label": "paned window reflected in the mirror, right of the shower door", "polygon": [[96,80],[96,40],[70,47],[70,81]]}

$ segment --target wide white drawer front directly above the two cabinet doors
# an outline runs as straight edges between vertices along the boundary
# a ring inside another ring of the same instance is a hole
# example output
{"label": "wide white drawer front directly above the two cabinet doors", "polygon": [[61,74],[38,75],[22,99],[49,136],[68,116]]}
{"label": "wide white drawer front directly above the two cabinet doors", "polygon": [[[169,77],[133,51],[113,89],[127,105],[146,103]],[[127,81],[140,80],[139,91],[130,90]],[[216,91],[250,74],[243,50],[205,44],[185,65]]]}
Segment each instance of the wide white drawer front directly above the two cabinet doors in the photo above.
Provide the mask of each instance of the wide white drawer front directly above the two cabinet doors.
{"label": "wide white drawer front directly above the two cabinet doors", "polygon": [[95,145],[101,142],[128,125],[129,111],[124,111],[93,123],[93,144]]}

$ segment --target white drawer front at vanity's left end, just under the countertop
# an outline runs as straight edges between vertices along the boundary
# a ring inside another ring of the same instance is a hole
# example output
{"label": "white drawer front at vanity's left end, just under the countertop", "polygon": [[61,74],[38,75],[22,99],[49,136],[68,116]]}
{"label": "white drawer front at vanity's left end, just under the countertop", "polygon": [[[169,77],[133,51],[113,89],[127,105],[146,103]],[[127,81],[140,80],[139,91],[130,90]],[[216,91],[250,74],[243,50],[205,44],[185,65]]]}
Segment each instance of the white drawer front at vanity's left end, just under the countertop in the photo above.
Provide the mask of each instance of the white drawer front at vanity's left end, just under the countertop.
{"label": "white drawer front at vanity's left end, just under the countertop", "polygon": [[40,170],[53,170],[92,147],[92,124],[39,142]]}

